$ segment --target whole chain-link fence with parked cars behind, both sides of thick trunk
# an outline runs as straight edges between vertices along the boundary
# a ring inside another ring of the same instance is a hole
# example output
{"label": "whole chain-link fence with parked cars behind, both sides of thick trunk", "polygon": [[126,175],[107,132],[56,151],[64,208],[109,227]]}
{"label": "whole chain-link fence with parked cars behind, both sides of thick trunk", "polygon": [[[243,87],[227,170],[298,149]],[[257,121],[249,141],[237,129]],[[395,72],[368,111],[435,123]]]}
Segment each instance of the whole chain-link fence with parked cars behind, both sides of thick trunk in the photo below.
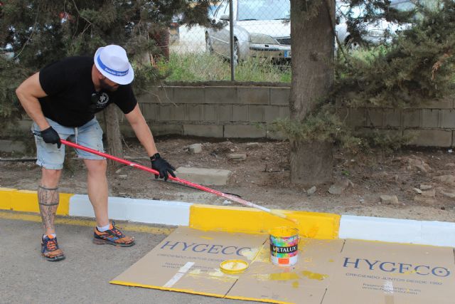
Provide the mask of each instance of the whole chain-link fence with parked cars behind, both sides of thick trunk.
{"label": "whole chain-link fence with parked cars behind, both sides of thick trunk", "polygon": [[[415,7],[412,1],[414,0],[391,0],[390,7],[409,11]],[[350,0],[335,2],[336,37],[333,43],[338,43],[336,48],[355,51],[363,46],[390,43],[395,33],[410,26],[385,19],[365,22],[367,9],[362,2],[352,10]],[[174,16],[168,48],[168,68],[173,73],[169,79],[289,83],[290,10],[290,0],[213,1],[207,14],[211,22],[224,23],[218,29],[203,26],[188,28],[181,24],[181,16]],[[361,34],[359,32],[354,35],[348,31],[348,16],[357,19],[362,25]]]}

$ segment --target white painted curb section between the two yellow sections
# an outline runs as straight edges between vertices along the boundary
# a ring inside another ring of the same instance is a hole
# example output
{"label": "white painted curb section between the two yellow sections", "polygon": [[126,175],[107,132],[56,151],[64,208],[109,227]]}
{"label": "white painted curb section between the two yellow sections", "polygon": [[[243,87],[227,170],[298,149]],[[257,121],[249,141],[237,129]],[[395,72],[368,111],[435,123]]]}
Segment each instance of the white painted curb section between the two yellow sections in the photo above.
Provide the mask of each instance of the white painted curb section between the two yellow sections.
{"label": "white painted curb section between the two yellow sections", "polygon": [[[109,219],[147,224],[189,226],[191,203],[109,196]],[[95,217],[87,195],[70,198],[70,216]]]}

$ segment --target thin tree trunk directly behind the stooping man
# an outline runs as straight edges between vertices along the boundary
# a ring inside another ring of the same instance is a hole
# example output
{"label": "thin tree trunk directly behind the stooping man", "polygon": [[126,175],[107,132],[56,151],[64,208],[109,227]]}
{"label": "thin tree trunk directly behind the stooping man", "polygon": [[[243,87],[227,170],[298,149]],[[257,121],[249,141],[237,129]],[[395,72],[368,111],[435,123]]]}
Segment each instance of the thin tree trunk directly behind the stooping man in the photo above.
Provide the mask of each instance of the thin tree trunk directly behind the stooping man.
{"label": "thin tree trunk directly behind the stooping man", "polygon": [[[107,154],[123,158],[122,135],[120,134],[119,117],[117,106],[109,105],[105,109]],[[109,166],[117,165],[117,162],[107,159]]]}

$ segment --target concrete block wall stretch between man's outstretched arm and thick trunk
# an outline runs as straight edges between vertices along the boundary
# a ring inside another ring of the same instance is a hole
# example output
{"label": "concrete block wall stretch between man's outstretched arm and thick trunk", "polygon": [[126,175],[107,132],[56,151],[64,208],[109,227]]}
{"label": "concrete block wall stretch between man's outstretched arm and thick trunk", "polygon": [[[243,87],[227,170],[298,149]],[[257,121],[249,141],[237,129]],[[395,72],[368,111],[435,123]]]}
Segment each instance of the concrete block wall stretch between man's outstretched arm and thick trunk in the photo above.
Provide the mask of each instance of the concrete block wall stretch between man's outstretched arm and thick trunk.
{"label": "concrete block wall stretch between man's outstretched arm and thick trunk", "polygon": [[[137,97],[154,135],[284,138],[270,130],[289,117],[289,87],[181,86],[151,88]],[[129,135],[127,122],[122,132]]]}

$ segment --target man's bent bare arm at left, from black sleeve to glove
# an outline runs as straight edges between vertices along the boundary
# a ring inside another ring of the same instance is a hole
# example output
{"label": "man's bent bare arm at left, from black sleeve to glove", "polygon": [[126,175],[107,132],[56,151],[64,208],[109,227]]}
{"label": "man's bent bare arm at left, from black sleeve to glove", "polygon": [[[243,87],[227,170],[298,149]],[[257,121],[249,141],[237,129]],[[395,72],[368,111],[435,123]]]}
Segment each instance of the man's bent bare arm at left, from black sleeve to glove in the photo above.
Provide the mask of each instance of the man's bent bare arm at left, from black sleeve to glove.
{"label": "man's bent bare arm at left, from black sleeve to glove", "polygon": [[26,110],[28,116],[36,122],[36,125],[38,125],[41,130],[48,129],[50,125],[45,120],[43,110],[41,110],[41,105],[38,101],[38,98],[47,95],[43,88],[41,88],[39,72],[24,80],[16,89],[16,95],[21,102],[22,107]]}

